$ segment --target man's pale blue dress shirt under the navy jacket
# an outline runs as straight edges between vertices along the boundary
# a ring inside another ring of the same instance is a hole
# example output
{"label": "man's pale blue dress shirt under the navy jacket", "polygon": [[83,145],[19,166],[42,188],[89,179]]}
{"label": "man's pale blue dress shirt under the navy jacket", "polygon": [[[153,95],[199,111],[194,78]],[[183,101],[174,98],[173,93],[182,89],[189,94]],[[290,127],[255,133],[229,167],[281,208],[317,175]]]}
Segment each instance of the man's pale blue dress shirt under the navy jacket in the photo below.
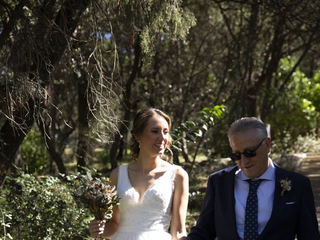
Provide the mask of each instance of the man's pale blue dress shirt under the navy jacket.
{"label": "man's pale blue dress shirt under the navy jacket", "polygon": [[[273,196],[274,196],[274,181],[275,181],[275,167],[272,160],[269,158],[270,165],[266,171],[259,177],[255,179],[264,179],[258,189],[258,234],[261,234],[263,228],[265,227],[267,221],[270,218]],[[235,219],[236,219],[236,229],[241,240],[244,234],[244,216],[245,216],[245,205],[246,198],[249,192],[249,183],[246,179],[250,179],[243,174],[241,169],[235,172],[235,182],[234,182],[234,198],[235,198]]]}

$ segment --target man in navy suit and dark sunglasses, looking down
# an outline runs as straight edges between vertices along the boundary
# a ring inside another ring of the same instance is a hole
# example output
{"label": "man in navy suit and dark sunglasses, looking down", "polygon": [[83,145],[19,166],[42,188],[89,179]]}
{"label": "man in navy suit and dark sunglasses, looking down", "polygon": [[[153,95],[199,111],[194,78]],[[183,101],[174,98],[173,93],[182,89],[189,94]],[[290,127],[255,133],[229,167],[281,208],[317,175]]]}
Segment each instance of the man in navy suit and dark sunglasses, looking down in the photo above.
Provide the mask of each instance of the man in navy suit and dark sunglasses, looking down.
{"label": "man in navy suit and dark sunglasses, looking down", "polygon": [[310,181],[268,157],[263,122],[238,119],[228,138],[237,166],[209,176],[201,213],[186,239],[320,239]]}

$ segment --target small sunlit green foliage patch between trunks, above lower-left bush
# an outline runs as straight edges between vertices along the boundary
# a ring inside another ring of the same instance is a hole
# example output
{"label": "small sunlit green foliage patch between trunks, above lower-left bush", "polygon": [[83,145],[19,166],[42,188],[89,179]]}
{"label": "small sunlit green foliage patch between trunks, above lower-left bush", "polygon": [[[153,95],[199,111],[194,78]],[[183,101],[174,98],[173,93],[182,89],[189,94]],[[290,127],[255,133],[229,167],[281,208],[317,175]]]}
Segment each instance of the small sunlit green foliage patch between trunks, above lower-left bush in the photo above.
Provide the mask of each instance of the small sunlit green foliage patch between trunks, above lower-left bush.
{"label": "small sunlit green foliage patch between trunks, above lower-left bush", "polygon": [[32,128],[22,141],[21,155],[30,173],[47,165],[48,153],[42,141],[43,136],[35,128]]}

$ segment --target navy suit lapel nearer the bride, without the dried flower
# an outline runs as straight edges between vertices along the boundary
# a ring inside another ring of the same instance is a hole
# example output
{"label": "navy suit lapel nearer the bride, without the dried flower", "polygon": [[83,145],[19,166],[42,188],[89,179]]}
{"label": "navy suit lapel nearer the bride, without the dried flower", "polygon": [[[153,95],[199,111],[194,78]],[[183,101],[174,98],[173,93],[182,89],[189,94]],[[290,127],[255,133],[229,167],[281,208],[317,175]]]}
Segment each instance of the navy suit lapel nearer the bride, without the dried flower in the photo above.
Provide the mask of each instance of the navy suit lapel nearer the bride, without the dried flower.
{"label": "navy suit lapel nearer the bride, without the dried flower", "polygon": [[221,174],[221,180],[219,181],[221,189],[220,195],[222,201],[222,207],[225,212],[225,217],[228,219],[229,222],[229,231],[232,232],[234,238],[232,239],[240,239],[238,236],[238,232],[236,230],[236,220],[235,220],[235,209],[234,209],[234,177],[235,171],[238,169],[237,166],[232,168],[228,172],[224,172]]}

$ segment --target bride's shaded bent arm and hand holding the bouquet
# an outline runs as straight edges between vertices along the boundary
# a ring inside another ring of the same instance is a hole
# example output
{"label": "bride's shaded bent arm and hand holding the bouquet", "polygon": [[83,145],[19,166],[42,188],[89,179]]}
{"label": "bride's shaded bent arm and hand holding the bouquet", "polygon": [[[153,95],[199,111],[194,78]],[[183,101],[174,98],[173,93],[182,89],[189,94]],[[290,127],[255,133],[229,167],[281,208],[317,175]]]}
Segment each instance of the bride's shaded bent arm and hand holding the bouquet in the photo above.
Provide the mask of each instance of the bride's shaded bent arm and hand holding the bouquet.
{"label": "bride's shaded bent arm and hand holding the bouquet", "polygon": [[[110,173],[110,183],[112,185],[117,184],[117,175],[118,167],[113,169]],[[92,220],[89,224],[89,230],[92,237],[97,237],[102,232],[102,237],[111,238],[111,236],[117,231],[119,226],[120,213],[118,206],[113,206],[112,208],[112,217],[110,221],[104,224],[104,221],[101,220]]]}

